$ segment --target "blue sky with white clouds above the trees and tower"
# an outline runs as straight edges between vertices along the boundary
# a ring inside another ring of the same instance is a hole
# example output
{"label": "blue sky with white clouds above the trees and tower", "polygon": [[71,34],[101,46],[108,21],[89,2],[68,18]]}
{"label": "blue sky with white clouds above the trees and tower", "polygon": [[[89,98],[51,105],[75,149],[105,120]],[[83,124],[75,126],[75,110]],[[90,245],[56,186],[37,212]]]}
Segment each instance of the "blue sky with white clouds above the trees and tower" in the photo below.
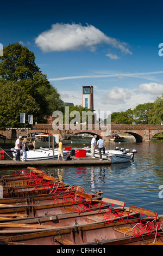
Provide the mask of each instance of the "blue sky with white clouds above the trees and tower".
{"label": "blue sky with white clouds above the trees and tower", "polygon": [[82,104],[82,86],[93,85],[95,110],[125,111],[163,93],[162,7],[143,0],[4,1],[0,43],[33,51],[65,102]]}

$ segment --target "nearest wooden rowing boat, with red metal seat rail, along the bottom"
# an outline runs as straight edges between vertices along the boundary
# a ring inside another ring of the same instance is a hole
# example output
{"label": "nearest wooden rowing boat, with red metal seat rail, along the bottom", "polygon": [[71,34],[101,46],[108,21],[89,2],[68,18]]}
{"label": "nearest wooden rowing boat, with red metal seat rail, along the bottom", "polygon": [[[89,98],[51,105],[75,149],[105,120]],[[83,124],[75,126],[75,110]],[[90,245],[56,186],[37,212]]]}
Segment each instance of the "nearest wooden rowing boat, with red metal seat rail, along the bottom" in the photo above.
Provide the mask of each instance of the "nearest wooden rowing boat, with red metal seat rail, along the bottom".
{"label": "nearest wooden rowing boat, with red metal seat rail, along the bottom", "polygon": [[[131,216],[131,213],[139,217]],[[147,240],[151,235],[158,239],[161,234],[157,232],[159,220],[156,213],[135,206],[130,207],[127,219],[99,222],[91,217],[93,215],[85,217],[85,224],[74,222],[67,227],[55,227],[55,224],[43,230],[1,230],[1,241],[29,245],[123,245],[129,241],[134,243]]]}

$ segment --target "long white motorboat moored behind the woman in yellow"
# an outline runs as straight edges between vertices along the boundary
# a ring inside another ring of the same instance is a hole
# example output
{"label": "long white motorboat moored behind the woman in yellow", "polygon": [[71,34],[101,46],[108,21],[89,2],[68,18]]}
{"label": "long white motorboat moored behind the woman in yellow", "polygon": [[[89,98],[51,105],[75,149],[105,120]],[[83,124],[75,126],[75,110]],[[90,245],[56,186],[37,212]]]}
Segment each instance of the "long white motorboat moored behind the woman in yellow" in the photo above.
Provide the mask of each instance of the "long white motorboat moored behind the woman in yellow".
{"label": "long white motorboat moored behind the woman in yellow", "polygon": [[[22,151],[20,151],[22,160]],[[12,152],[14,158],[16,157],[16,151]],[[70,155],[70,151],[63,150],[64,159]],[[58,148],[54,148],[54,160],[58,159]],[[61,160],[61,156],[59,160]],[[48,148],[39,148],[38,150],[29,150],[27,151],[27,161],[39,161],[39,160],[53,160],[53,150]]]}

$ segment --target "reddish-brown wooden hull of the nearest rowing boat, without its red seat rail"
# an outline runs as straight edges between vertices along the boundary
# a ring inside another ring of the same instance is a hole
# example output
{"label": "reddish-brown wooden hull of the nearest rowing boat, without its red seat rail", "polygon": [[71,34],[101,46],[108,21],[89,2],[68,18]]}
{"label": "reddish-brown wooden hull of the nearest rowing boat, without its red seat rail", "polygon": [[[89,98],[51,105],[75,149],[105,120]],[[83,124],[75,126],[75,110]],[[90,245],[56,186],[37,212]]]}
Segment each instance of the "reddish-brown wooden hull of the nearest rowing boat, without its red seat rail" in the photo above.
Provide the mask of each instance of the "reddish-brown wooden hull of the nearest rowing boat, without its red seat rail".
{"label": "reddish-brown wooden hull of the nearest rowing boat, without its red seat rail", "polygon": [[[133,224],[134,225],[134,224]],[[117,228],[133,228],[126,220],[118,222],[91,222],[85,224],[70,225],[68,227],[53,227],[47,229],[31,230],[2,230],[1,241],[26,243],[29,245],[115,245],[126,244],[129,241],[142,241],[142,237],[124,235]],[[17,234],[16,234],[17,233]],[[153,234],[155,235],[155,233]],[[148,235],[146,236],[147,239]]]}

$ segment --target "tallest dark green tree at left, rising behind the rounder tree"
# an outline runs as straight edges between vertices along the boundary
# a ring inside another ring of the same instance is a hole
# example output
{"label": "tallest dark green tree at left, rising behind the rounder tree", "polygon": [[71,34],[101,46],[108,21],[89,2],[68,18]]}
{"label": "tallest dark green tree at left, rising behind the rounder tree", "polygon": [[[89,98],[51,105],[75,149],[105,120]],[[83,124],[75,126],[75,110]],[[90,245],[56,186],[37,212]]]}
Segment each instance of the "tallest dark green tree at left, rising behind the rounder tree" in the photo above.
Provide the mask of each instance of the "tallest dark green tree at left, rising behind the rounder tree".
{"label": "tallest dark green tree at left, rising behind the rounder tree", "polygon": [[47,117],[52,115],[53,111],[64,107],[57,89],[37,67],[34,53],[19,43],[4,47],[3,56],[0,57],[0,81],[3,84],[16,81],[32,96],[39,105],[37,122],[47,122]]}

